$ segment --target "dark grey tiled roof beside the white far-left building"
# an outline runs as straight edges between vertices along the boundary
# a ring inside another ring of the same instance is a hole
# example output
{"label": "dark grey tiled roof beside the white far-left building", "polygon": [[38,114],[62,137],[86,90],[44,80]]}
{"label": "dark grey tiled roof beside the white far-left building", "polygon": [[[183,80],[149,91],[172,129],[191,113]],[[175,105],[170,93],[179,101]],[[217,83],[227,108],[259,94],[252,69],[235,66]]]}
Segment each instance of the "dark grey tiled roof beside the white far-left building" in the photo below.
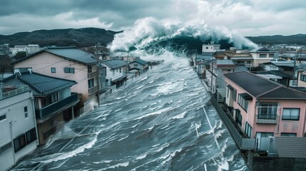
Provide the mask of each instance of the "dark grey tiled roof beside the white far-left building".
{"label": "dark grey tiled roof beside the white far-left building", "polygon": [[18,74],[6,78],[4,83],[11,85],[28,85],[33,91],[33,95],[49,95],[76,84],[75,81],[44,76],[39,73],[21,73],[21,75]]}

